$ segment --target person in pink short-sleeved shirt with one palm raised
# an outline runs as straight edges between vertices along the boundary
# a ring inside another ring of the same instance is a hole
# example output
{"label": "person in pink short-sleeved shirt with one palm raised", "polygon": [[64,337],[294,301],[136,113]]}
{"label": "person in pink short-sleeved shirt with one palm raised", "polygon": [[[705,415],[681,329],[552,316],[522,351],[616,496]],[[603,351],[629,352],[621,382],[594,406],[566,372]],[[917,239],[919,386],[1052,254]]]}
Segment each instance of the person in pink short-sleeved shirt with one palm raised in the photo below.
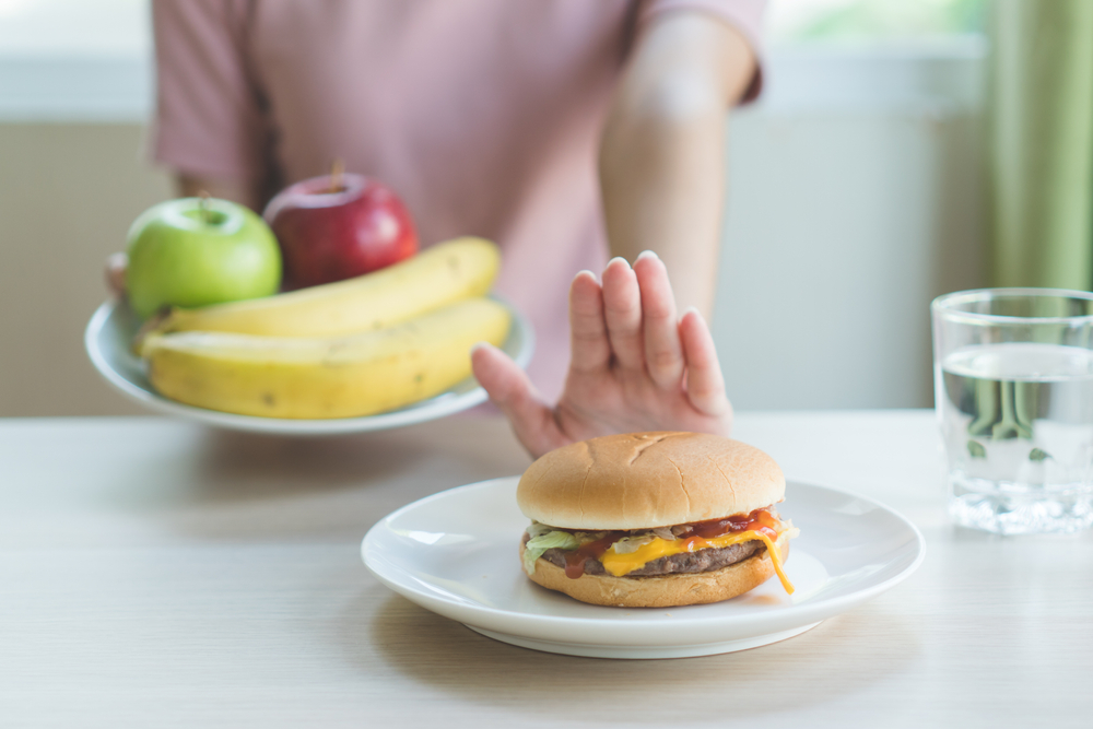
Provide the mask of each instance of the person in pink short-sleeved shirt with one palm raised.
{"label": "person in pink short-sleeved shirt with one palm raised", "polygon": [[256,211],[341,158],[399,193],[423,247],[497,242],[496,291],[537,354],[527,374],[485,345],[472,363],[532,455],[609,432],[728,434],[700,311],[763,4],[157,0],[154,156],[184,195]]}

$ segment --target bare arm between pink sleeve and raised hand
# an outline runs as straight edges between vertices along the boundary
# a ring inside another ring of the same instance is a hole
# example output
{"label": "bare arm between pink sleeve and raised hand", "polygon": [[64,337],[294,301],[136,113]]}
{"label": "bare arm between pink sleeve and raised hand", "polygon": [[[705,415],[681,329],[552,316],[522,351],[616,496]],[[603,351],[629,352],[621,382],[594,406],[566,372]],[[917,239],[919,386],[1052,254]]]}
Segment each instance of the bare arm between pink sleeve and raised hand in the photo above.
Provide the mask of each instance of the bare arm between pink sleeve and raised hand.
{"label": "bare arm between pink sleeve and raised hand", "polygon": [[755,61],[731,26],[701,13],[656,19],[613,101],[600,150],[611,252],[656,251],[679,306],[709,314],[725,199],[725,119]]}

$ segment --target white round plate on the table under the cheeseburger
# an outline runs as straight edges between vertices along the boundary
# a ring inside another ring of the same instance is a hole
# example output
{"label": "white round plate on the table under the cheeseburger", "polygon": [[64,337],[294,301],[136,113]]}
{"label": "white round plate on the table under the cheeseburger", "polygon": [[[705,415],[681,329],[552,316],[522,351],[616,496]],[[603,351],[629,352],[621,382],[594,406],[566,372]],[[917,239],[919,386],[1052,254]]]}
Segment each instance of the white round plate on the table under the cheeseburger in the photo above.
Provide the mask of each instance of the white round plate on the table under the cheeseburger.
{"label": "white round plate on the table under the cheeseburger", "polygon": [[874,501],[789,483],[778,505],[801,534],[786,572],[732,600],[686,608],[603,608],[525,577],[517,544],[528,519],[518,478],[414,502],[380,520],[361,545],[368,569],[412,602],[526,648],[597,658],[682,658],[743,650],[815,626],[894,587],[918,567],[922,536]]}

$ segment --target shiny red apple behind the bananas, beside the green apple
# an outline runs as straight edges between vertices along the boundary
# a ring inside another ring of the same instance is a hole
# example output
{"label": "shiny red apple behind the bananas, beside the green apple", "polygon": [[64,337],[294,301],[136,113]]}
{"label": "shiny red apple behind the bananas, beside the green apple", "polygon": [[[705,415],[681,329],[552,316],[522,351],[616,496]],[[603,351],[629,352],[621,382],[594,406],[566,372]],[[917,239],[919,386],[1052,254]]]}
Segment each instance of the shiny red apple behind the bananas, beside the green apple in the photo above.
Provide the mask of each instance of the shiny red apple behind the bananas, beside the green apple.
{"label": "shiny red apple behind the bananas, beside the green apple", "polygon": [[281,190],[262,215],[281,244],[286,289],[351,279],[418,250],[418,233],[398,196],[337,167]]}

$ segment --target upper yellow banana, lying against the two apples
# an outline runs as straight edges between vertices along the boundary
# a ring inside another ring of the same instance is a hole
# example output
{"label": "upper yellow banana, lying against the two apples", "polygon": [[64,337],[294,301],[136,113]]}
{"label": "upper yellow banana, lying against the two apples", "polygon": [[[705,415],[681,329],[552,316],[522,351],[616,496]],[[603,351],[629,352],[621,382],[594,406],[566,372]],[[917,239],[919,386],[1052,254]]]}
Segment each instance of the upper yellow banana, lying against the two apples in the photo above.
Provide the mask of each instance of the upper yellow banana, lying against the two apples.
{"label": "upper yellow banana, lying against the two apples", "polygon": [[[262,337],[339,337],[381,329],[472,296],[501,268],[497,246],[463,237],[374,273],[266,298],[173,309],[149,332],[222,331]],[[136,344],[140,349],[140,342]]]}

